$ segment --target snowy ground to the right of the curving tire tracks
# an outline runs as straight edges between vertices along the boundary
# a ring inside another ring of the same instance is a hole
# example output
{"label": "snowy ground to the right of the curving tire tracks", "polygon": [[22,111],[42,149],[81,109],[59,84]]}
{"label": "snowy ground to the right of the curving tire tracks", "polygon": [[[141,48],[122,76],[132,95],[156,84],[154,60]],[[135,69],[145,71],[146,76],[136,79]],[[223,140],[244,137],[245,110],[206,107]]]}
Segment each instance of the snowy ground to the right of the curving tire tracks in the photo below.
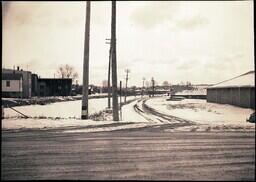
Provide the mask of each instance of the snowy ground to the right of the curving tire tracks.
{"label": "snowy ground to the right of the curving tire tracks", "polygon": [[246,122],[253,109],[236,107],[228,104],[208,103],[201,99],[166,101],[167,97],[149,99],[146,104],[165,114],[180,117],[198,124],[255,126]]}

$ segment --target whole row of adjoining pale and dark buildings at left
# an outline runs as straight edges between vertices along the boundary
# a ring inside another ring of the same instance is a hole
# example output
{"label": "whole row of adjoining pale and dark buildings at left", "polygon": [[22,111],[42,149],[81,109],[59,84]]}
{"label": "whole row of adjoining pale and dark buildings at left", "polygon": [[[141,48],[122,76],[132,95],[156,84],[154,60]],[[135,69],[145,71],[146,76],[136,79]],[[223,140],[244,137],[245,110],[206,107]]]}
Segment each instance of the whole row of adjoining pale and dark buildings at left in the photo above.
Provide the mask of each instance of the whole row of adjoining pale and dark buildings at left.
{"label": "whole row of adjoining pale and dark buildings at left", "polygon": [[2,69],[2,96],[31,98],[31,96],[69,96],[71,78],[39,78],[30,71]]}

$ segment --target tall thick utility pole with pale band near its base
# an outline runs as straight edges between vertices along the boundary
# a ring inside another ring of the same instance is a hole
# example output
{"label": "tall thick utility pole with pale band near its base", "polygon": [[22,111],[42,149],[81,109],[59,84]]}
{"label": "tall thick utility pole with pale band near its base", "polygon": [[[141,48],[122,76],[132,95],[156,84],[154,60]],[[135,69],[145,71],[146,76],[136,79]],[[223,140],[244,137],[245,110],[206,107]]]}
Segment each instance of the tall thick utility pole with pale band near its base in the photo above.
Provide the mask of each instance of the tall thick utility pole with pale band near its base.
{"label": "tall thick utility pole with pale band near its base", "polygon": [[90,13],[91,2],[86,2],[86,22],[84,37],[84,67],[83,67],[83,98],[82,98],[82,119],[88,119],[88,89],[89,89],[89,43],[90,43]]}

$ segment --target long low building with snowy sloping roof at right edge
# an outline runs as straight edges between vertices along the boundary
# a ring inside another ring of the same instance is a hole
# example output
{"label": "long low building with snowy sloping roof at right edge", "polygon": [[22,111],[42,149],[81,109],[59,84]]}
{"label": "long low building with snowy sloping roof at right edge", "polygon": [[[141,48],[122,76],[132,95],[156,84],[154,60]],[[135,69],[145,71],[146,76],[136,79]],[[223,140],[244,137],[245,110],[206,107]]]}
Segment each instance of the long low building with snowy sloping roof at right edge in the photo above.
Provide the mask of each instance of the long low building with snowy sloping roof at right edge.
{"label": "long low building with snowy sloping roof at right edge", "polygon": [[255,109],[255,71],[208,87],[207,102]]}

